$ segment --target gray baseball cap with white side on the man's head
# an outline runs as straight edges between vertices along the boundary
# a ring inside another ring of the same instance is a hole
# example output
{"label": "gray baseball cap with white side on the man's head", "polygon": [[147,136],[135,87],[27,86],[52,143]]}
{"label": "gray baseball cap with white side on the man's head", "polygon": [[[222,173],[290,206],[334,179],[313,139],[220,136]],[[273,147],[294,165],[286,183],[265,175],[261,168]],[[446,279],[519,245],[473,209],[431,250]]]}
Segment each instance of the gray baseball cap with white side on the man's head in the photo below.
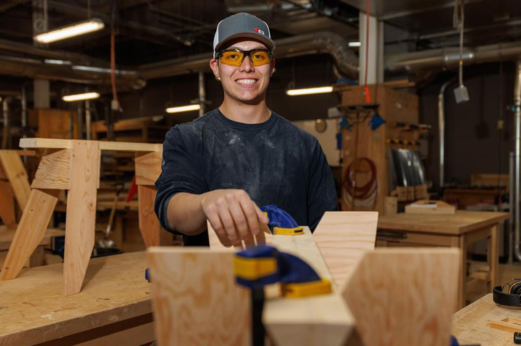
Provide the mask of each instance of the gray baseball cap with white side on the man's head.
{"label": "gray baseball cap with white side on the man's head", "polygon": [[265,21],[256,16],[242,12],[233,14],[217,24],[216,35],[213,36],[213,56],[216,56],[223,44],[238,37],[257,39],[265,44],[268,49],[275,49],[275,42],[271,39],[270,28]]}

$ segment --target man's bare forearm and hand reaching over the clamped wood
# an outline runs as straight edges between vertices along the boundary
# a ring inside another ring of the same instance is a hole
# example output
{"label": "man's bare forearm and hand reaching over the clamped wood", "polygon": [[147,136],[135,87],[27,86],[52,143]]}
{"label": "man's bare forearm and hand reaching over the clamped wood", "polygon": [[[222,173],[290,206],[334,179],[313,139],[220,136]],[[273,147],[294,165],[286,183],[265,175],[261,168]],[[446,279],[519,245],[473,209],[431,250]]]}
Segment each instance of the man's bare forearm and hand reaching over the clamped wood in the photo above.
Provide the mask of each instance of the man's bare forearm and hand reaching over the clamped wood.
{"label": "man's bare forearm and hand reaching over the clamped wood", "polygon": [[171,228],[186,235],[206,230],[208,219],[223,245],[238,245],[260,231],[268,218],[244,190],[213,190],[201,195],[177,193],[168,203]]}

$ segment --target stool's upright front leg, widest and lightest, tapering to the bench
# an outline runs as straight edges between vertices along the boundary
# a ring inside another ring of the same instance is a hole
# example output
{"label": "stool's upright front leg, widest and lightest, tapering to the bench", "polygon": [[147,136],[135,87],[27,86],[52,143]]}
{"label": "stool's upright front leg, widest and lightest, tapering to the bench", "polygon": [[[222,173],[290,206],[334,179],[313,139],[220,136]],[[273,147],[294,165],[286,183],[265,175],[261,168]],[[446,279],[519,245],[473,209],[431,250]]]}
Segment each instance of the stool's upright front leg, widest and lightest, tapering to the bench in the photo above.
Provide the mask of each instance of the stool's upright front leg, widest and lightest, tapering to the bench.
{"label": "stool's upright front leg, widest and lightest, tapering to the bench", "polygon": [[64,295],[81,290],[94,247],[96,193],[99,181],[97,141],[74,141],[71,189],[67,195],[65,225]]}

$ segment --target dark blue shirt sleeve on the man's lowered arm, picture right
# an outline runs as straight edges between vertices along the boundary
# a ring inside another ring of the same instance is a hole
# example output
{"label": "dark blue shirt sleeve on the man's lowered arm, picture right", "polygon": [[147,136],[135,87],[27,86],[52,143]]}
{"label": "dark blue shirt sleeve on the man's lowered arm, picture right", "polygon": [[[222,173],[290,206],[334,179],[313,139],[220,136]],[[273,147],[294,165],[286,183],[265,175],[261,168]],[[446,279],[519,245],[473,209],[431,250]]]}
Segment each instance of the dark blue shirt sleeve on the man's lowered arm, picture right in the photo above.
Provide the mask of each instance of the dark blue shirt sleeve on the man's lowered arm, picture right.
{"label": "dark blue shirt sleeve on the man's lowered arm, picture right", "polygon": [[317,140],[311,151],[309,177],[308,226],[313,232],[326,211],[337,210],[335,180]]}

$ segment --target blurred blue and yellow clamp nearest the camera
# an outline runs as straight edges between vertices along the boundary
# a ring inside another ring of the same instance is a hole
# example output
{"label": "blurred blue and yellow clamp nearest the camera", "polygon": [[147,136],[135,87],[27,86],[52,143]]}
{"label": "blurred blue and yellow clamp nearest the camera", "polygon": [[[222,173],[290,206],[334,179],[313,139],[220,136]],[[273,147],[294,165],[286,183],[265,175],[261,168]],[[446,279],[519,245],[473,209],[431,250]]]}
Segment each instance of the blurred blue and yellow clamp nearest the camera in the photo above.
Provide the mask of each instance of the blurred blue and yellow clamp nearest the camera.
{"label": "blurred blue and yellow clamp nearest the camera", "polygon": [[321,279],[300,258],[281,253],[268,245],[258,245],[236,253],[233,260],[236,280],[247,288],[280,283],[284,297],[309,297],[331,292],[331,282]]}

